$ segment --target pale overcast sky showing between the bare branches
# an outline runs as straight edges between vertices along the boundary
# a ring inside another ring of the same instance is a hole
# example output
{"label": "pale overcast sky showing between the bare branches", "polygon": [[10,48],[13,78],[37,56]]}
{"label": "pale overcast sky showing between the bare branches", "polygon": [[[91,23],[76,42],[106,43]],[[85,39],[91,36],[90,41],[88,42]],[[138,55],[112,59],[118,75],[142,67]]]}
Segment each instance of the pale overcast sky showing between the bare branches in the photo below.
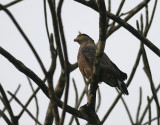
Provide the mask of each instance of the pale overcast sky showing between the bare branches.
{"label": "pale overcast sky showing between the bare branches", "polygon": [[[112,0],[112,12],[115,13],[117,7],[121,0]],[[127,0],[124,9],[122,12],[127,12],[134,6],[136,6],[142,0]],[[0,0],[0,3],[6,4],[11,2],[10,0]],[[154,0],[149,4],[149,10],[152,10]],[[158,48],[160,48],[160,35],[159,35],[159,19],[160,19],[160,3],[158,2],[158,7],[156,10],[155,18],[153,21],[153,25],[151,30],[147,36],[147,38],[152,41]],[[51,61],[49,44],[47,39],[47,34],[45,30],[44,23],[44,12],[43,12],[43,0],[25,0],[17,5],[14,5],[9,8],[12,12],[28,38],[31,40],[32,44],[36,48],[39,53],[45,67],[48,69]],[[136,14],[136,16],[129,21],[132,26],[136,26],[136,20],[139,20],[140,14],[144,13],[143,9],[140,13]],[[151,14],[151,13],[149,13]],[[69,54],[69,60],[71,63],[75,63],[77,60],[77,53],[79,45],[73,42],[73,39],[78,35],[78,32],[86,33],[91,36],[95,42],[98,41],[99,36],[99,15],[97,12],[87,8],[77,2],[72,0],[66,0],[62,9],[62,19],[64,25],[64,31],[67,41],[67,48]],[[48,9],[48,22],[50,33],[52,31],[52,22],[50,18],[50,13]],[[139,50],[139,40],[135,38],[132,34],[126,31],[124,28],[121,28],[119,31],[115,32],[111,37],[107,39],[105,52],[108,54],[110,59],[124,72],[126,72],[129,76],[133,64],[135,62],[135,58],[137,56]],[[32,69],[41,79],[43,79],[44,75],[37,63],[37,60],[33,56],[31,50],[26,44],[23,37],[20,35],[16,27],[13,25],[10,18],[3,12],[0,11],[0,46],[10,52],[14,57],[21,60],[27,67]],[[147,47],[147,55],[149,58],[149,63],[151,65],[151,71],[153,74],[153,80],[155,86],[158,86],[160,83],[160,59],[153,52],[151,52]],[[59,64],[57,64],[59,66]],[[54,83],[56,84],[57,79],[60,74],[60,67],[56,69],[56,73],[54,75]],[[84,82],[82,79],[82,75],[79,72],[79,69],[76,69],[73,73],[71,73],[71,78],[75,78],[76,85],[78,87],[79,95],[83,90]],[[25,104],[32,91],[26,79],[26,76],[19,72],[11,63],[8,62],[3,56],[0,55],[0,83],[3,85],[5,91],[14,92],[18,86],[21,84],[21,89],[17,94],[17,97]],[[34,83],[33,83],[34,84]],[[54,85],[55,86],[55,85]],[[141,60],[136,75],[128,88],[129,96],[123,96],[126,100],[129,109],[131,110],[131,114],[133,119],[136,118],[136,110],[139,101],[139,87],[143,88],[143,102],[142,107],[146,106],[147,103],[147,95],[151,95],[150,84],[146,77],[146,74],[143,71],[143,62]],[[34,87],[37,86],[34,84]],[[98,112],[98,116],[100,119],[103,118],[105,112],[107,112],[108,108],[111,106],[113,100],[115,99],[117,92],[114,88],[109,87],[106,84],[100,84],[99,88],[102,94],[102,105]],[[73,99],[74,91],[73,91],[73,83],[70,82],[70,92],[69,92],[69,105],[74,106]],[[8,97],[10,97],[8,95]],[[160,98],[160,96],[159,96]],[[40,91],[38,93],[38,100],[40,105],[40,115],[39,121],[41,123],[44,122],[47,106],[48,106],[48,98]],[[81,105],[86,103],[86,99],[82,102]],[[18,114],[21,111],[20,106],[13,101],[12,107],[14,107],[14,113]],[[0,108],[2,109],[2,103],[0,102]],[[155,103],[152,103],[152,116],[156,116]],[[35,114],[35,102],[34,100],[29,105],[28,109]],[[144,109],[144,108],[143,108]],[[142,111],[143,111],[142,109]],[[142,113],[142,112],[141,112]],[[140,113],[140,114],[141,114]],[[140,115],[141,116],[141,115]],[[67,118],[65,120],[66,123],[69,121],[70,115],[67,114]],[[147,117],[144,121],[147,120]],[[80,120],[81,124],[84,124],[85,121]],[[121,102],[118,102],[118,105],[114,108],[111,115],[108,117],[105,124],[115,125],[115,124],[130,124],[129,118],[126,114],[125,108]],[[6,123],[0,119],[0,124],[5,125]],[[24,113],[23,117],[20,119],[20,124],[28,125],[34,124],[33,120]],[[154,122],[156,124],[156,122]]]}

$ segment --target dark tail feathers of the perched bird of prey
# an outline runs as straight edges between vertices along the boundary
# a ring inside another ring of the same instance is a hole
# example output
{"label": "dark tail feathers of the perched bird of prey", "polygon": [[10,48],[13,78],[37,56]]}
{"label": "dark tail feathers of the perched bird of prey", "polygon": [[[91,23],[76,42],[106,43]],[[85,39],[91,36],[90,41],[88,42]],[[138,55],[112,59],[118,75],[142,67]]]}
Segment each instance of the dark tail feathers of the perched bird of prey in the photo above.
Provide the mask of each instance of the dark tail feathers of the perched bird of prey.
{"label": "dark tail feathers of the perched bird of prey", "polygon": [[117,80],[117,83],[117,87],[122,92],[122,94],[129,95],[126,84],[120,80]]}

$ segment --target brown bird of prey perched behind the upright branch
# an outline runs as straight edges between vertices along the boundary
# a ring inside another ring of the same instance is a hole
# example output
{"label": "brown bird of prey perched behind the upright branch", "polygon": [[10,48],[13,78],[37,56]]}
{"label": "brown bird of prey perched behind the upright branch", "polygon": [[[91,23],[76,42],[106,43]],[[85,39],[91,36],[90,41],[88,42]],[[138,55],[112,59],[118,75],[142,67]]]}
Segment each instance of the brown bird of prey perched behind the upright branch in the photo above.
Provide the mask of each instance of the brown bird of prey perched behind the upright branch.
{"label": "brown bird of prey perched behind the upright branch", "polygon": [[[94,43],[94,40],[86,34],[78,35],[74,41],[80,44],[77,57],[78,67],[82,75],[90,81],[97,45]],[[109,57],[103,53],[100,62],[99,82],[105,82],[112,87],[118,87],[123,94],[128,95],[128,90],[124,83],[125,79],[127,79],[127,74],[122,72]]]}

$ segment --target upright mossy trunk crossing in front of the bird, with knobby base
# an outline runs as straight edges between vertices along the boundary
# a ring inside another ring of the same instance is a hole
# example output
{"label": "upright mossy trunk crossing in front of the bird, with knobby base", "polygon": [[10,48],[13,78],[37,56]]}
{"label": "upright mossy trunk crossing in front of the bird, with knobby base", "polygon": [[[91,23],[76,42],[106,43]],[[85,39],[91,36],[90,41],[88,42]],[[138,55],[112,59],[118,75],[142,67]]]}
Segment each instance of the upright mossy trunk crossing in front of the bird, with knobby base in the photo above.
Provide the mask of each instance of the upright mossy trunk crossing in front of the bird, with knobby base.
{"label": "upright mossy trunk crossing in front of the bird, with knobby base", "polygon": [[90,124],[100,125],[100,120],[95,112],[96,90],[98,88],[99,62],[104,52],[105,33],[106,33],[106,7],[104,0],[98,0],[99,9],[99,42],[97,44],[96,58],[93,65],[93,74],[91,79],[90,93],[87,105],[80,108],[81,111],[87,113],[90,117]]}

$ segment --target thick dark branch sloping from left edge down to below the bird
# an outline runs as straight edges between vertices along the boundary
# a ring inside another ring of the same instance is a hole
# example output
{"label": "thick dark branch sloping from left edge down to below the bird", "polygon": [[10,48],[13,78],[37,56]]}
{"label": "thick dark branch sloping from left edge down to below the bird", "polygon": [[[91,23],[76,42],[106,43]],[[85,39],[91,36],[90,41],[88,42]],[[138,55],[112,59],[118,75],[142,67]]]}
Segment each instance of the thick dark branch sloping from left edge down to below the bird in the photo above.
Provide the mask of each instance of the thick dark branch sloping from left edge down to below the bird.
{"label": "thick dark branch sloping from left edge down to below the bird", "polygon": [[[6,59],[8,59],[19,71],[21,71],[26,76],[31,78],[40,87],[40,89],[44,92],[44,94],[49,98],[48,87],[44,84],[44,81],[42,81],[33,71],[27,68],[22,62],[15,59],[10,53],[4,50],[1,46],[0,46],[0,54],[2,54]],[[62,108],[63,102],[59,100],[56,96],[54,96],[54,101],[60,108]],[[67,105],[66,111],[79,118],[82,118],[85,120],[89,119],[88,116],[84,114],[82,115],[80,111],[72,108],[69,105]]]}

